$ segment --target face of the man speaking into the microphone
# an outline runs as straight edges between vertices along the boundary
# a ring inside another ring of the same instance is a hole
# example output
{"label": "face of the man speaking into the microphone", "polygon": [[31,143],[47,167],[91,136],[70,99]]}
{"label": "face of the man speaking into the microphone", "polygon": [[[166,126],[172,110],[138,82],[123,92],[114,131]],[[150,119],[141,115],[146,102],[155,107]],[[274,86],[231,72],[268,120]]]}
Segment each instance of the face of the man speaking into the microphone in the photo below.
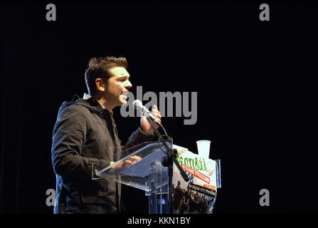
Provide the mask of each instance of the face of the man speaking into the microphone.
{"label": "face of the man speaking into the microphone", "polygon": [[105,98],[107,105],[115,108],[127,103],[127,93],[132,83],[129,81],[129,73],[123,67],[110,68],[110,73],[113,76],[107,81]]}

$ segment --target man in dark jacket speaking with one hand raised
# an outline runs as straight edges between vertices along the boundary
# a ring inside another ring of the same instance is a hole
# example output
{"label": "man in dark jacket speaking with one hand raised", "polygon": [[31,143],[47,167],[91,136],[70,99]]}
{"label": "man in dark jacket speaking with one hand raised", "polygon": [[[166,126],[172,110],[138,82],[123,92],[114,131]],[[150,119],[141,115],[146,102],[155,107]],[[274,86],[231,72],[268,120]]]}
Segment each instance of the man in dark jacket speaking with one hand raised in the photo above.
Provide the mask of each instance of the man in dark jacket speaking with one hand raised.
{"label": "man in dark jacket speaking with one hand raised", "polygon": [[[118,138],[112,109],[127,103],[129,79],[126,58],[91,58],[85,72],[88,94],[75,95],[60,106],[51,150],[56,175],[54,213],[120,213],[120,183],[92,180],[92,166],[107,167],[121,150],[154,140],[154,130],[143,115],[125,145]],[[161,121],[156,105],[152,115]],[[138,160],[131,157],[115,171]]]}

